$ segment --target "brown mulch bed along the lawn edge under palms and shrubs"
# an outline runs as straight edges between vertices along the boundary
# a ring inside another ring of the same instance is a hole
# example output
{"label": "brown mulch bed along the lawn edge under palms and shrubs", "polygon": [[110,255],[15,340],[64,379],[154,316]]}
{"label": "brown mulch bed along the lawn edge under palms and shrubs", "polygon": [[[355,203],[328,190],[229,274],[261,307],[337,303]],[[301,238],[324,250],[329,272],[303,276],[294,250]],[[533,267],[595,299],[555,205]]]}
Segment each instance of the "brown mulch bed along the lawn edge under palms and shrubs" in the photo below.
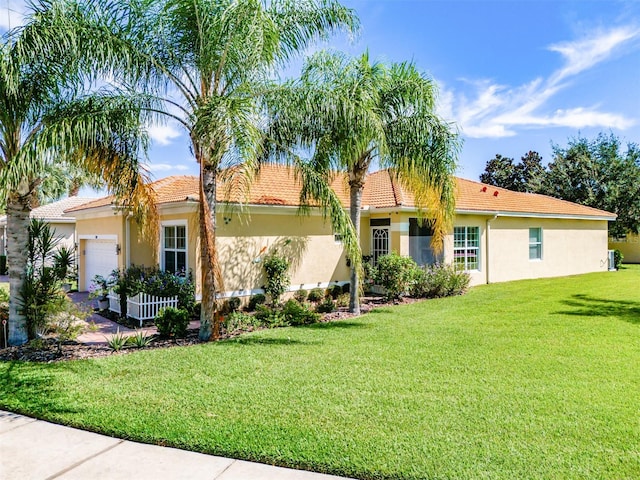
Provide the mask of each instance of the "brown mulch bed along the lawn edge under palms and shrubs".
{"label": "brown mulch bed along the lawn edge under palms and shrubs", "polygon": [[[413,303],[418,301],[413,298],[402,298],[392,304],[386,303],[380,297],[364,297],[361,304],[361,313],[367,313],[373,308],[379,308],[388,305],[398,305],[402,303]],[[322,316],[321,322],[332,322],[336,320],[344,320],[353,318],[356,315],[349,313],[346,308],[340,308],[335,312],[327,313]],[[220,337],[220,340],[237,337],[247,332],[226,333]],[[127,347],[119,351],[113,351],[106,345],[87,345],[75,341],[65,342],[61,346],[53,339],[43,339],[37,348],[32,343],[21,345],[19,347],[9,347],[0,349],[0,361],[26,361],[51,363],[66,360],[81,360],[87,358],[108,357],[111,355],[126,355],[139,350],[150,350],[155,348],[170,348],[177,346],[195,345],[200,342],[198,338],[198,329],[190,329],[187,331],[186,338],[166,339],[155,337],[149,346],[143,348]]]}

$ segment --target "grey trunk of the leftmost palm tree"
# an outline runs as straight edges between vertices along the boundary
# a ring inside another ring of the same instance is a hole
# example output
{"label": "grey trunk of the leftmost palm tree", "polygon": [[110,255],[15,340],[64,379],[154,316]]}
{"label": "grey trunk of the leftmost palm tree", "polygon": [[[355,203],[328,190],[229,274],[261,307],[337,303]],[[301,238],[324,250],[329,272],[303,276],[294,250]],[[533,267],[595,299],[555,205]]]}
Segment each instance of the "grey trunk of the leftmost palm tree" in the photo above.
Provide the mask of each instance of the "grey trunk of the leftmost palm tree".
{"label": "grey trunk of the leftmost palm tree", "polygon": [[7,264],[9,266],[9,345],[29,340],[27,317],[20,313],[19,292],[23,288],[29,246],[31,193],[10,193],[7,199]]}

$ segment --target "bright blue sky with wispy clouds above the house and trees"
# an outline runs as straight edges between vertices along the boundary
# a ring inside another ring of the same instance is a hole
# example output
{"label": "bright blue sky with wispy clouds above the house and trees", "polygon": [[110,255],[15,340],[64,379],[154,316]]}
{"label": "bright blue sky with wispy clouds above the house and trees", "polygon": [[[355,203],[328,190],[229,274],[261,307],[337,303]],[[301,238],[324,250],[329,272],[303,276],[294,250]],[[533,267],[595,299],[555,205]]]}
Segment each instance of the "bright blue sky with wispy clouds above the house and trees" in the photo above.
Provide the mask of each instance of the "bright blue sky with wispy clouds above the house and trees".
{"label": "bright blue sky with wispy clouds above the house and trees", "polygon": [[[24,7],[9,3],[15,26]],[[549,161],[552,142],[577,135],[613,132],[640,143],[640,1],[343,3],[357,11],[360,35],[314,50],[368,49],[374,59],[413,61],[430,75],[440,114],[464,139],[459,176],[477,180],[497,153],[519,160],[535,150]],[[8,20],[0,14],[0,27]],[[184,132],[169,124],[150,133],[153,177],[197,172]]]}

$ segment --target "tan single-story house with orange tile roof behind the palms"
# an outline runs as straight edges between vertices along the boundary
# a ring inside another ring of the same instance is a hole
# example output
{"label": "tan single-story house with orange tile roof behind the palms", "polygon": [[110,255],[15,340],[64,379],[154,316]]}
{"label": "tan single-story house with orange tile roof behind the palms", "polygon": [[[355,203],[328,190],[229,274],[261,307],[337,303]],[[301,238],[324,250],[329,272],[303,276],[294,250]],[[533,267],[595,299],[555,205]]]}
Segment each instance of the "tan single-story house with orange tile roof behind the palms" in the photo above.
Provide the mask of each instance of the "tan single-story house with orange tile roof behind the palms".
{"label": "tan single-story house with orange tile roof behind the palms", "polygon": [[[76,217],[81,290],[89,288],[94,275],[131,264],[199,271],[197,178],[172,176],[152,185],[161,222],[160,236],[152,241],[144,240],[112,197],[68,210]],[[344,177],[336,178],[333,188],[348,208]],[[221,202],[224,191],[218,189]],[[340,238],[319,212],[298,215],[299,192],[287,167],[267,165],[248,195],[232,193],[226,205],[219,204],[217,247],[224,296],[261,291],[261,260],[276,250],[291,261],[291,290],[348,281]],[[606,271],[607,222],[615,217],[544,195],[458,178],[454,226],[444,251],[436,256],[430,229],[418,219],[411,195],[389,171],[381,170],[366,181],[361,247],[374,263],[391,251],[420,264],[453,262],[470,273],[472,284]],[[195,275],[197,281],[199,277]]]}

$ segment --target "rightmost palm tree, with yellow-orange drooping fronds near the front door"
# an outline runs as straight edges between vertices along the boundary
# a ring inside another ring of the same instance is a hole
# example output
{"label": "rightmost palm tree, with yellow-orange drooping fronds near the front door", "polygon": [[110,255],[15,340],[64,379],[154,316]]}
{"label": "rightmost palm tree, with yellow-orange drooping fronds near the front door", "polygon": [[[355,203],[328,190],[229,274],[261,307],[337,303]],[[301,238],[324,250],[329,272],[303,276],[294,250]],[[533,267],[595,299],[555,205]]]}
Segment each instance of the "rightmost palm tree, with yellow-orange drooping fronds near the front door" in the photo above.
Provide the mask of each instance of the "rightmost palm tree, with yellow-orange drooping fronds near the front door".
{"label": "rightmost palm tree, with yellow-orange drooping fronds near the front door", "polygon": [[[350,218],[359,236],[362,192],[377,161],[409,190],[440,248],[454,213],[458,136],[436,113],[436,86],[411,63],[371,63],[318,52],[301,78],[269,97],[272,154],[312,152],[318,175],[346,172]],[[359,313],[359,273],[351,269],[350,310]]]}

